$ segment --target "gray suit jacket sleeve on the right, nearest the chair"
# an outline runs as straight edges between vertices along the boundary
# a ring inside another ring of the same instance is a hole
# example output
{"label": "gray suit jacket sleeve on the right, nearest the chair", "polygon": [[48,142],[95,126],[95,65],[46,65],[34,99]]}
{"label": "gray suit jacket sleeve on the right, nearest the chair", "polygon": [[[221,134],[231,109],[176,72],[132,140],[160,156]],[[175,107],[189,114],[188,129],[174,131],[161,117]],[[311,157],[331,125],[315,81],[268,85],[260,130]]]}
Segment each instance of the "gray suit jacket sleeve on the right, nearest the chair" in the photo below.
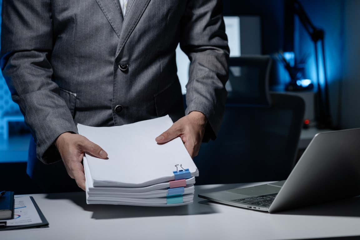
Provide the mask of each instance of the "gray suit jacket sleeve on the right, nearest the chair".
{"label": "gray suit jacket sleeve on the right, nearest the chair", "polygon": [[203,141],[214,140],[224,114],[229,62],[220,0],[189,1],[182,19],[180,47],[191,62],[186,114],[202,112],[208,119]]}

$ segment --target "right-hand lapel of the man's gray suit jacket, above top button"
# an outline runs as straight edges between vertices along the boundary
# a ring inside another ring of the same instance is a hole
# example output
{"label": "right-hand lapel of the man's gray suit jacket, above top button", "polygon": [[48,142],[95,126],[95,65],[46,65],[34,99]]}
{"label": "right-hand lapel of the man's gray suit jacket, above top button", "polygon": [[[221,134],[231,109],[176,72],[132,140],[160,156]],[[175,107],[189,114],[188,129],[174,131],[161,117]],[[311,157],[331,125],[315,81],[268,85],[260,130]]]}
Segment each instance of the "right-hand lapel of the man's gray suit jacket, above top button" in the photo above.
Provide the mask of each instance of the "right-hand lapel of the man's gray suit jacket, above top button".
{"label": "right-hand lapel of the man's gray suit jacket, above top button", "polygon": [[116,56],[118,56],[126,41],[129,39],[130,34],[134,31],[136,24],[138,24],[149,2],[150,0],[128,0]]}

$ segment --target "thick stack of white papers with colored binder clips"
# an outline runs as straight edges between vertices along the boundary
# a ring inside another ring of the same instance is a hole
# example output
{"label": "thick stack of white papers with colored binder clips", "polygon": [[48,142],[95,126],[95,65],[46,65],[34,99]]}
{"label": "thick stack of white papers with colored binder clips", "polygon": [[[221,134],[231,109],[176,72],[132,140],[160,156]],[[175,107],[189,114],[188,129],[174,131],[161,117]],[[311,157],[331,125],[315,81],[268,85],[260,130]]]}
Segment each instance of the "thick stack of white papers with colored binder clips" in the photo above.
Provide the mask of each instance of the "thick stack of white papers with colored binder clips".
{"label": "thick stack of white papers with colored binder clips", "polygon": [[114,127],[78,124],[79,133],[101,146],[107,159],[85,153],[88,204],[177,206],[193,202],[199,175],[179,137],[158,144],[172,126],[169,116]]}

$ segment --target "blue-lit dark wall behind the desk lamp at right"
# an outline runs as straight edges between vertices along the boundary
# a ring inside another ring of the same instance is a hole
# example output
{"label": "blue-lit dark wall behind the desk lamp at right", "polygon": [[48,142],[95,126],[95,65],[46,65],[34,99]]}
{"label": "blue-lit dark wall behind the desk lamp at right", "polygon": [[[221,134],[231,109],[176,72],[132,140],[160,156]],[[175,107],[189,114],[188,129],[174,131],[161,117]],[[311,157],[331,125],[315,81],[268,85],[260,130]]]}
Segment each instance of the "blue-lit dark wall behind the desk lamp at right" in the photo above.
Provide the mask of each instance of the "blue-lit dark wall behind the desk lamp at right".
{"label": "blue-lit dark wall behind the desk lamp at right", "polygon": [[[357,0],[300,0],[311,22],[325,32],[325,62],[329,85],[329,106],[333,125],[354,128],[360,124],[359,22],[360,1]],[[308,56],[305,76],[316,79],[314,43],[297,16],[293,31],[286,25],[287,0],[224,0],[225,15],[260,15],[262,17],[262,54],[293,51],[295,58]],[[284,85],[289,81],[282,65],[273,69],[271,85]],[[316,83],[316,82],[315,82]]]}

